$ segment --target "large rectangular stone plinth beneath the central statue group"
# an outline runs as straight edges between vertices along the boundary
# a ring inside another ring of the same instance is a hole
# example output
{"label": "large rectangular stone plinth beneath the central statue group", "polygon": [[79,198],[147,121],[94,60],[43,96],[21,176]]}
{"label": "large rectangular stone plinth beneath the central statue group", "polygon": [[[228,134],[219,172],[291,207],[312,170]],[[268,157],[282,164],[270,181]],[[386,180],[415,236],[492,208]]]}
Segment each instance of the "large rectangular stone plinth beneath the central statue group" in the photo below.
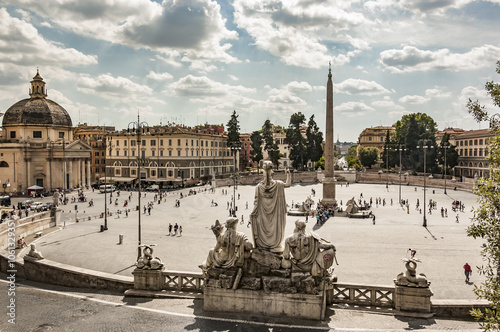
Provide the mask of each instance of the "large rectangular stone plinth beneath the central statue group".
{"label": "large rectangular stone plinth beneath the central statue group", "polygon": [[322,295],[205,287],[203,310],[324,320],[326,305],[323,299]]}

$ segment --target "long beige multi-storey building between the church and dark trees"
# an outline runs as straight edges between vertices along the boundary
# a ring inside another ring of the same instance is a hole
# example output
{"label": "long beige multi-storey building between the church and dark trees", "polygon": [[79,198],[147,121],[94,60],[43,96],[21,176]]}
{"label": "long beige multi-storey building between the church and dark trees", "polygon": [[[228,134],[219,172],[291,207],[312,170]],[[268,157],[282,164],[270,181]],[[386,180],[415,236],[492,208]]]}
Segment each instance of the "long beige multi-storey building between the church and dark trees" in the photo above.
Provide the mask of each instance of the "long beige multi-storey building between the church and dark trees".
{"label": "long beige multi-storey building between the church and dark trees", "polygon": [[[235,159],[221,126],[154,126],[108,135],[107,176],[135,184],[140,172],[146,183],[181,184],[233,173]],[[140,144],[137,144],[137,142]],[[139,171],[140,169],[140,171]]]}

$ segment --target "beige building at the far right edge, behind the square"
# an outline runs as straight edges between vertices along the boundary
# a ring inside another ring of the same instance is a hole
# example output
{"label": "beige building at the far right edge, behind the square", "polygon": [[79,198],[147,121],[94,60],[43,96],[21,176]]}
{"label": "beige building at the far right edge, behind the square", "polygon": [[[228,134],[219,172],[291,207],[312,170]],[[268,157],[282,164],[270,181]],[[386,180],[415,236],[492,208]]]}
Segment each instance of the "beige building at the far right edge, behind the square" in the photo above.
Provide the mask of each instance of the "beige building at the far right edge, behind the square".
{"label": "beige building at the far right edge, behind the square", "polygon": [[489,141],[494,133],[489,129],[469,130],[456,136],[458,165],[455,166],[455,176],[458,177],[489,177],[490,161],[488,158]]}

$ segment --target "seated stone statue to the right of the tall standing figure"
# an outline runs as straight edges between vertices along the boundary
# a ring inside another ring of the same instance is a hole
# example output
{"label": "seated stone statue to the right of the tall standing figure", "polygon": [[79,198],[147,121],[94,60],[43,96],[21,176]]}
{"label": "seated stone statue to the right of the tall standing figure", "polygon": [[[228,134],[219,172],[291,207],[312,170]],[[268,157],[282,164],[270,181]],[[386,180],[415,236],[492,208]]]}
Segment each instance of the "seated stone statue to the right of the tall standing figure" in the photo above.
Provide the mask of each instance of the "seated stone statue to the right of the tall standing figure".
{"label": "seated stone statue to the right of the tall standing figure", "polygon": [[285,269],[293,267],[303,272],[311,272],[312,276],[322,277],[335,259],[335,246],[311,232],[306,233],[306,223],[297,220],[293,235],[285,239],[285,251],[281,266]]}

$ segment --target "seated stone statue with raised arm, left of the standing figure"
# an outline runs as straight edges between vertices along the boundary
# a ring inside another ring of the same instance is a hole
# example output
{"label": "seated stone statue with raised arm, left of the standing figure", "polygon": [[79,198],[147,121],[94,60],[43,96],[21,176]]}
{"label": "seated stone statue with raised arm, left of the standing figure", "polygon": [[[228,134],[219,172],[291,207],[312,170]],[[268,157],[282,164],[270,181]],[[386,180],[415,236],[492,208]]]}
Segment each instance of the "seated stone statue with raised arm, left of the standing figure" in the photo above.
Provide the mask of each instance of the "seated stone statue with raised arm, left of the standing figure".
{"label": "seated stone statue with raised arm, left of the standing figure", "polygon": [[238,218],[230,217],[226,220],[226,231],[222,232],[222,225],[217,220],[213,225],[212,232],[215,234],[217,243],[210,249],[208,257],[200,268],[207,270],[211,267],[231,268],[241,267],[245,260],[245,254],[253,248],[245,234],[236,231]]}

